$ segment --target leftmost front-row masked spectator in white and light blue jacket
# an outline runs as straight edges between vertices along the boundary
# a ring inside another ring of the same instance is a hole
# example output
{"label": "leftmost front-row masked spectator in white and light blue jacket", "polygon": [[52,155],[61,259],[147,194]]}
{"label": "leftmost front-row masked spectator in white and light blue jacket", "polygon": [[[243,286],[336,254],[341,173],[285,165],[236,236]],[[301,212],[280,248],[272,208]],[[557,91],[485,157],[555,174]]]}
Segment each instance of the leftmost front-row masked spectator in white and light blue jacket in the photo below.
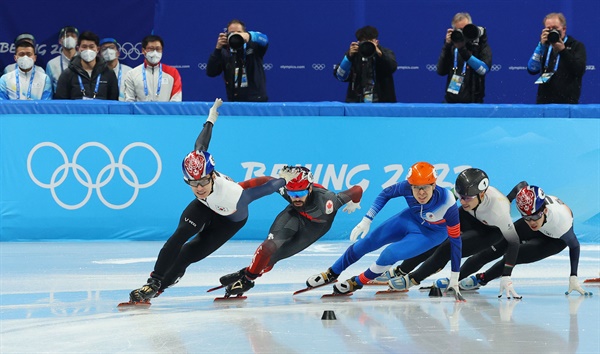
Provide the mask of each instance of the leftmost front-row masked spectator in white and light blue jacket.
{"label": "leftmost front-row masked spectator in white and light blue jacket", "polygon": [[49,100],[52,83],[44,70],[34,65],[35,47],[28,39],[21,39],[15,46],[16,70],[0,77],[0,100]]}

